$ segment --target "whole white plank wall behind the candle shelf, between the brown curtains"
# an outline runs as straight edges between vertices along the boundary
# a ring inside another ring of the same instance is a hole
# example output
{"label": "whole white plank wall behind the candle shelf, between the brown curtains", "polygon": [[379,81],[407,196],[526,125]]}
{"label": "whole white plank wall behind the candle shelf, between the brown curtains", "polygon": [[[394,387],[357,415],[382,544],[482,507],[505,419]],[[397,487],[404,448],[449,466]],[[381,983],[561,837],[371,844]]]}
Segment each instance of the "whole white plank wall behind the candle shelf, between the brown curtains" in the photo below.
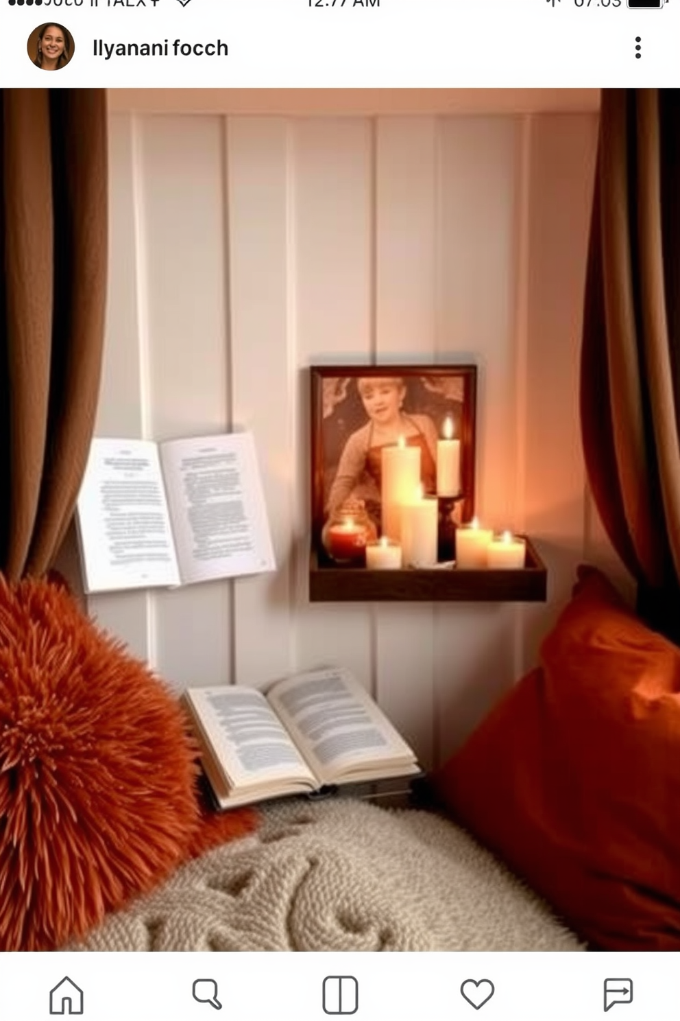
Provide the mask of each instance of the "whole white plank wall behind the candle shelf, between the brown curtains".
{"label": "whole white plank wall behind the candle shelf, between the brown curtains", "polygon": [[[275,574],[91,596],[175,686],[353,669],[442,758],[533,663],[589,548],[578,343],[596,114],[111,114],[99,435],[249,429]],[[476,503],[547,605],[310,604],[307,368],[479,367]],[[593,525],[594,528],[594,525]]]}

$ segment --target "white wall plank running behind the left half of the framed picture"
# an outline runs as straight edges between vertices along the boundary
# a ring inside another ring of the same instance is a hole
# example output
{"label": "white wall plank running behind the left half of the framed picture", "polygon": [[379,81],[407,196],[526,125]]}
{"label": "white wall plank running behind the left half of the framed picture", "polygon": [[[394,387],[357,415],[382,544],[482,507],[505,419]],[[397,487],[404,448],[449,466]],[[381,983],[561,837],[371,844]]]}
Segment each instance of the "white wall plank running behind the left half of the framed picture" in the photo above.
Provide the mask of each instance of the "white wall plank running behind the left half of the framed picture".
{"label": "white wall plank running behind the left half of the framed picture", "polygon": [[310,364],[371,358],[372,165],[369,123],[299,120],[294,126],[295,321],[300,370],[295,402],[298,468],[295,630],[298,667],[344,663],[372,676],[371,614],[357,603],[310,604]]}

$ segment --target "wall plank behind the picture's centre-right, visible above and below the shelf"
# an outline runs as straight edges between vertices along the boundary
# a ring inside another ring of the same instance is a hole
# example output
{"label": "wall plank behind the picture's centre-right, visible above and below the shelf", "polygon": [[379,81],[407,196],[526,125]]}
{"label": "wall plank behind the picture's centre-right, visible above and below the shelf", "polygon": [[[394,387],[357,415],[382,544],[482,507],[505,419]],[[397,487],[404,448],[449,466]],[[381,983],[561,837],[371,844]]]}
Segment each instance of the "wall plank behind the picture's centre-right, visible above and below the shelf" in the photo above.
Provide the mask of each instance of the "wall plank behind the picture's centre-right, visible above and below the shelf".
{"label": "wall plank behind the picture's centre-right, visible above and below the shelf", "polygon": [[[376,359],[430,362],[435,340],[436,138],[434,118],[376,126]],[[375,687],[423,765],[432,761],[432,607],[374,606]]]}

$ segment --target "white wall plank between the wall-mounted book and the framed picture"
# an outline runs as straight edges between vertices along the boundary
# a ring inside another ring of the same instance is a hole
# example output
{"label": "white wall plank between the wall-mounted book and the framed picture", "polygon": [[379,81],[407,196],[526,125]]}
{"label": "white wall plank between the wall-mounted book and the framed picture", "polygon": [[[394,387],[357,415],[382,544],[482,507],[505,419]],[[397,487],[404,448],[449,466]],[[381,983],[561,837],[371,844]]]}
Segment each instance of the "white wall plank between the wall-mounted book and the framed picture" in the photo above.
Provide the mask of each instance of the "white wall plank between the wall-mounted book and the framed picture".
{"label": "white wall plank between the wall-mounted book and the framed picture", "polygon": [[254,433],[276,571],[234,582],[234,680],[262,685],[294,667],[292,536],[299,488],[292,409],[299,384],[291,336],[290,129],[233,118],[227,134],[231,406]]}

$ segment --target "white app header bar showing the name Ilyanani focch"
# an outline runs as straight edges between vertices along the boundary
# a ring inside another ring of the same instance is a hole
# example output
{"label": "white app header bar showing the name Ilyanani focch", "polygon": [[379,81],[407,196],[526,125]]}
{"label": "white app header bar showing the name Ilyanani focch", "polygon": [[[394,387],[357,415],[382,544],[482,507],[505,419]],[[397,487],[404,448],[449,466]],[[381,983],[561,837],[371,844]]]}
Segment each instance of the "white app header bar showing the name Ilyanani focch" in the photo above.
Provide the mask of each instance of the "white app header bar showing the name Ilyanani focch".
{"label": "white app header bar showing the name Ilyanani focch", "polygon": [[73,43],[51,87],[600,88],[673,86],[680,76],[680,4],[669,0],[0,5],[3,85],[43,84],[32,34],[49,17]]}

